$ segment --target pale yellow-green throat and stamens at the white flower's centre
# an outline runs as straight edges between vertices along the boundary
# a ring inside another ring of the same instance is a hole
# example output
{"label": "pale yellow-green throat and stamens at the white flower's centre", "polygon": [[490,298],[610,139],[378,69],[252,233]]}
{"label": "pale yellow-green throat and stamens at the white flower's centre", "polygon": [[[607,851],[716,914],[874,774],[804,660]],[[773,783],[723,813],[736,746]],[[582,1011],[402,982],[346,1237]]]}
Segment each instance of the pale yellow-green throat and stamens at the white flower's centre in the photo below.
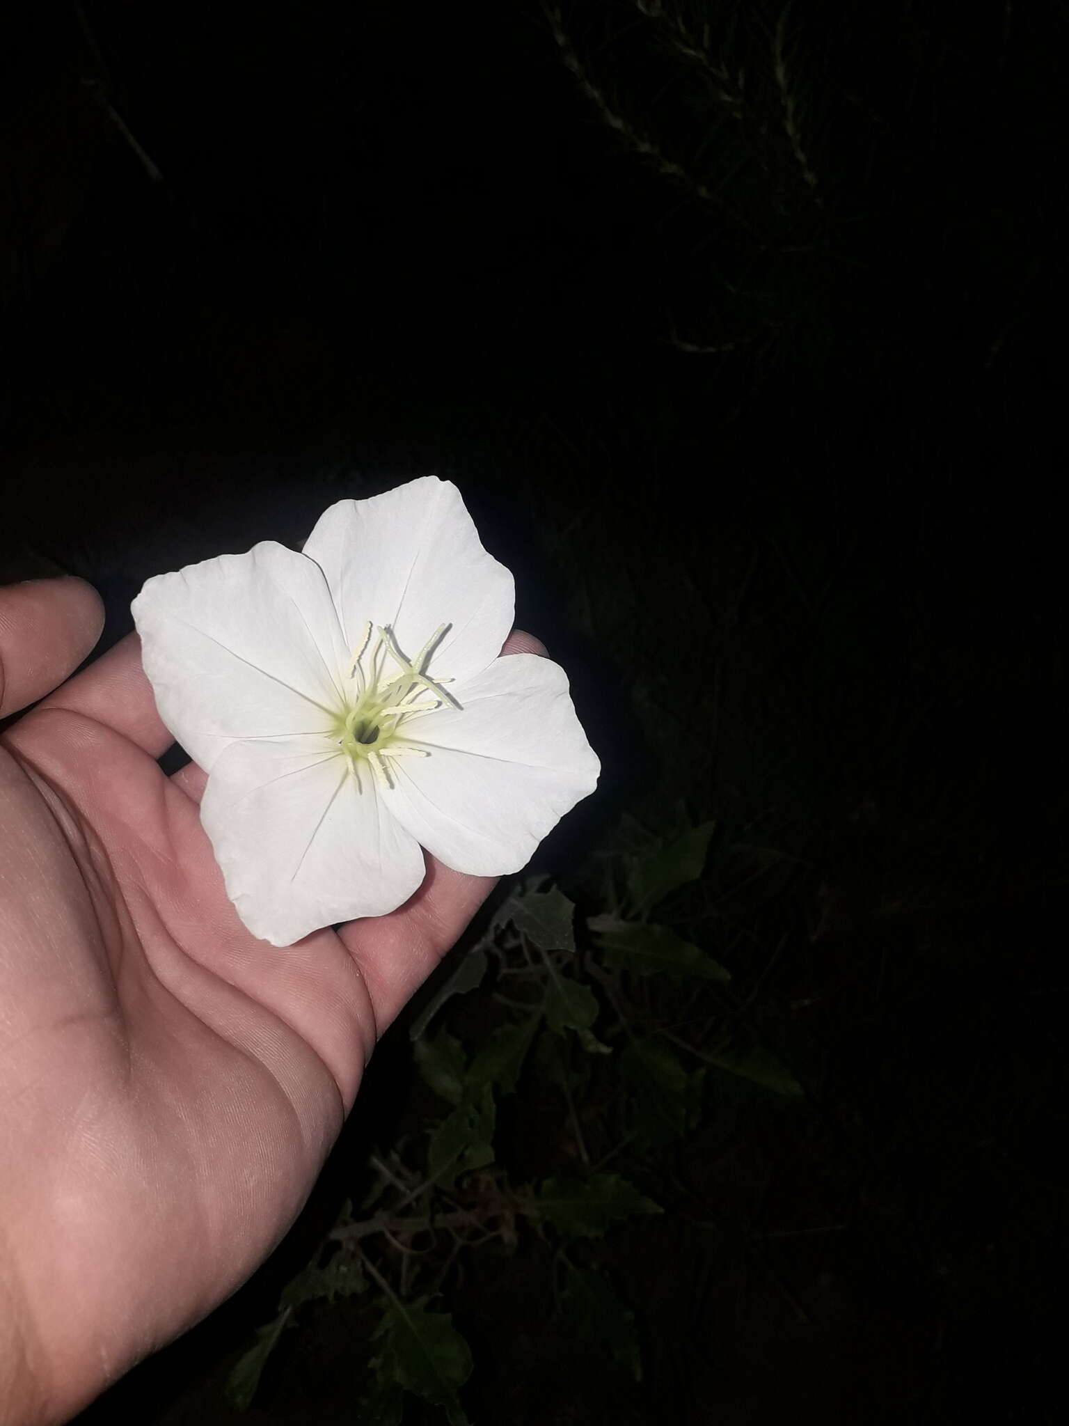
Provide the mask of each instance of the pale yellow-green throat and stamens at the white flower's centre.
{"label": "pale yellow-green throat and stamens at the white flower's centre", "polygon": [[[369,769],[381,786],[393,787],[395,771],[391,763],[395,757],[430,756],[425,747],[416,747],[405,737],[405,729],[415,714],[433,713],[446,703],[460,707],[442,686],[453,680],[432,679],[426,672],[449,627],[440,625],[416,657],[408,659],[389,625],[379,627],[373,647],[371,637],[375,630],[371,622],[363,626],[359,647],[346,673],[345,703],[335,714],[331,729],[331,737],[349,760],[349,770],[361,791],[362,769]],[[399,666],[398,673],[393,673],[391,659]]]}

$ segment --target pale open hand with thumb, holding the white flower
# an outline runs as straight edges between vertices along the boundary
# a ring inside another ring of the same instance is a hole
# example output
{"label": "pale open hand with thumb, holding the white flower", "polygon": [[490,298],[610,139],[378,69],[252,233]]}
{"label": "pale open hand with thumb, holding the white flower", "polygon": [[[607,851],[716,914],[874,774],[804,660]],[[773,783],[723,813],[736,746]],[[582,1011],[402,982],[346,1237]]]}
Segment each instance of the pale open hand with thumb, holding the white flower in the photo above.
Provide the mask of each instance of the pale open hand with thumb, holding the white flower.
{"label": "pale open hand with thumb, holding the white flower", "polygon": [[3,1426],[67,1420],[248,1278],[493,887],[428,857],[391,915],[255,940],[204,773],[155,761],[137,636],[70,677],[101,626],[83,580],[0,588],[0,716],[43,699],[0,734]]}

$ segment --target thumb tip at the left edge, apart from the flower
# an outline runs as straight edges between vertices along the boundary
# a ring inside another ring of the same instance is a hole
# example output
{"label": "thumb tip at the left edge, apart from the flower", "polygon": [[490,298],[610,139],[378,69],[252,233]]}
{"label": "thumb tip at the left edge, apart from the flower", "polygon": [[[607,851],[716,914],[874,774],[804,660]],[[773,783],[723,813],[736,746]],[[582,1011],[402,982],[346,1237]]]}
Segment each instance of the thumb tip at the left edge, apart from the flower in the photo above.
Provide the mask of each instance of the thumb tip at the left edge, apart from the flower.
{"label": "thumb tip at the left edge, apart from the flower", "polygon": [[104,605],[84,579],[33,579],[0,589],[0,717],[58,687],[103,627]]}

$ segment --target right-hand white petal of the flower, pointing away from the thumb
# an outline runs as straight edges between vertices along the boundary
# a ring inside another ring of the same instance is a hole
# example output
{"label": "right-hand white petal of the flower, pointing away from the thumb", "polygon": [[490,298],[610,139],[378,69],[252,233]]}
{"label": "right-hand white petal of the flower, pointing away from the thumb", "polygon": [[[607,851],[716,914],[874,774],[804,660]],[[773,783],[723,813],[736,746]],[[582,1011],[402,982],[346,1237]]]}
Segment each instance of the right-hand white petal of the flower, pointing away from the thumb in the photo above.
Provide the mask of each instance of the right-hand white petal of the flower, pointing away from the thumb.
{"label": "right-hand white petal of the flower, pointing away from the thumb", "polygon": [[412,719],[429,757],[393,764],[398,821],[455,871],[519,871],[557,821],[597,786],[600,764],[564,670],[533,653],[496,659],[458,687],[462,710]]}

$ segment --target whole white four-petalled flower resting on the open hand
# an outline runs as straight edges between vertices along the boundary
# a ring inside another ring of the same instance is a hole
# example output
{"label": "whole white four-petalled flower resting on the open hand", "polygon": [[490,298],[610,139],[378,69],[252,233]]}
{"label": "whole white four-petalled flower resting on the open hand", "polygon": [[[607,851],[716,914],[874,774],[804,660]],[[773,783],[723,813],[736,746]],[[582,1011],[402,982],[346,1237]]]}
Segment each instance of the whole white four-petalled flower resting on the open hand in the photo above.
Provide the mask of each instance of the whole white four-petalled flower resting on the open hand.
{"label": "whole white four-petalled flower resting on the open hand", "polygon": [[446,481],[339,501],[304,553],[157,575],[133,609],[227,893],[274,945],[401,906],[420,847],[519,871],[597,783],[563,670],[499,657],[512,575]]}

